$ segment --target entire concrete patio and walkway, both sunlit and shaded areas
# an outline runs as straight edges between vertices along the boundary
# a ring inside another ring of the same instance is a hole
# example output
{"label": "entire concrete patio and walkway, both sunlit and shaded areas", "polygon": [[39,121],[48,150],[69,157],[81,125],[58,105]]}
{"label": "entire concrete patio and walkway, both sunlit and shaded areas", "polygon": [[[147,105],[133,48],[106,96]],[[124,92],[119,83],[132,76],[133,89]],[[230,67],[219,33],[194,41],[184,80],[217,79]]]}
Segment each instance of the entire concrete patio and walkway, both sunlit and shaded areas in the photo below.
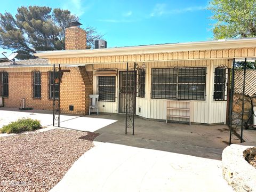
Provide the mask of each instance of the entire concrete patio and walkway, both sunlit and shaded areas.
{"label": "entire concrete patio and walkway, both sunlit and shaded areas", "polygon": [[[12,108],[0,109],[0,127],[22,117],[52,127],[52,111]],[[219,161],[228,146],[226,125],[166,124],[136,117],[135,135],[132,130],[125,135],[125,116],[116,114],[61,115],[60,125],[100,135],[51,191],[233,191]],[[244,130],[248,134],[253,139],[256,130]]]}

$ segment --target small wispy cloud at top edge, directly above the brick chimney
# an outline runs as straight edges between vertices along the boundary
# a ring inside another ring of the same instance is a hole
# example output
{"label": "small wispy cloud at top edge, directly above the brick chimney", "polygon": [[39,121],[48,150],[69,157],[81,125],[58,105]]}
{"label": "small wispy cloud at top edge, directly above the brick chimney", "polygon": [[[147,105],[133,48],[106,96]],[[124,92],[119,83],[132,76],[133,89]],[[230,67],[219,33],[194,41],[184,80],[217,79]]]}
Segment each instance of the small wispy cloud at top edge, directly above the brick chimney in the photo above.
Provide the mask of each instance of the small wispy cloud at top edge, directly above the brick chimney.
{"label": "small wispy cloud at top edge, directly above the brick chimney", "polygon": [[67,0],[63,3],[62,9],[67,9],[71,14],[76,14],[80,17],[89,9],[89,6],[83,6],[81,0]]}

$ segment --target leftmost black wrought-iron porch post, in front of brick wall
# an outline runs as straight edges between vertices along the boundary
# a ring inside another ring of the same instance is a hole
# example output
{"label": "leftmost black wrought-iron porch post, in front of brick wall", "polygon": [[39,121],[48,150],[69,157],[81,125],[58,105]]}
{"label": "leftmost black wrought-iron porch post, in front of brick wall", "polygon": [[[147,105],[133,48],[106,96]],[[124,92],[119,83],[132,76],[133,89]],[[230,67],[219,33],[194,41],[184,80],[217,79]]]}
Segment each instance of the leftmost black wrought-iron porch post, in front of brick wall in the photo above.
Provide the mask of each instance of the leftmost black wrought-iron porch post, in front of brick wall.
{"label": "leftmost black wrought-iron porch post, in front of brick wall", "polygon": [[[58,77],[55,75],[58,73]],[[60,126],[60,79],[61,79],[61,68],[60,65],[55,67],[53,65],[53,126],[55,121],[58,121],[58,127]],[[56,85],[58,86],[58,97],[56,97]]]}

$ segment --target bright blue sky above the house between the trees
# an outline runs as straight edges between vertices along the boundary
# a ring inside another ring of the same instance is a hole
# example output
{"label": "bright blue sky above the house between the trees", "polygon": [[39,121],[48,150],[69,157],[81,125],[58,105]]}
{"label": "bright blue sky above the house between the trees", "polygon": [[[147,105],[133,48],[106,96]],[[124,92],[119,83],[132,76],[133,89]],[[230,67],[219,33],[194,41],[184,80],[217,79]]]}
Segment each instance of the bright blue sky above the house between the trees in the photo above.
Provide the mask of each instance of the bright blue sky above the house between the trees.
{"label": "bright blue sky above the house between the trees", "polygon": [[[212,38],[209,1],[180,0],[43,0],[2,1],[0,12],[40,5],[69,9],[81,23],[104,34],[108,47],[207,41]],[[1,49],[0,49],[1,50]]]}

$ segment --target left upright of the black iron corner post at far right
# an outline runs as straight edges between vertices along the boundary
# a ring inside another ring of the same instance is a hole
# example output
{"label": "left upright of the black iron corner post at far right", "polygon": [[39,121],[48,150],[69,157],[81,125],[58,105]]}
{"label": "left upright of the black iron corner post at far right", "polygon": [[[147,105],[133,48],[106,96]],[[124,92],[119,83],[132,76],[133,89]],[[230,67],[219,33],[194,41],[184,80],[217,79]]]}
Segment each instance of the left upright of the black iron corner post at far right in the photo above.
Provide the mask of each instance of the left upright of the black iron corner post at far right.
{"label": "left upright of the black iron corner post at far right", "polygon": [[232,68],[232,79],[231,79],[231,91],[229,95],[229,145],[231,145],[231,136],[232,136],[232,122],[233,122],[233,95],[234,95],[234,84],[235,84],[235,61],[236,59],[233,59],[233,68]]}

